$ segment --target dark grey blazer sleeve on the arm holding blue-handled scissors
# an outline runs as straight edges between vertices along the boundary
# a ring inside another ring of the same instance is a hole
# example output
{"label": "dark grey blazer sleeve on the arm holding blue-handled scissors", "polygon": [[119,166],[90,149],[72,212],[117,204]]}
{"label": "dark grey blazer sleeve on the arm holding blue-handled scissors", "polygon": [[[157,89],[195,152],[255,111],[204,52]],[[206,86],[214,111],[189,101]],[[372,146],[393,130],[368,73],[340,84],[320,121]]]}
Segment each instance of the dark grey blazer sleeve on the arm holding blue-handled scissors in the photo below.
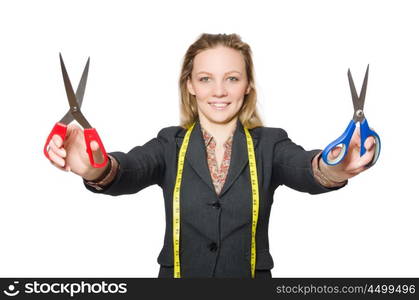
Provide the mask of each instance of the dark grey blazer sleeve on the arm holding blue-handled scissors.
{"label": "dark grey blazer sleeve on the arm holding blue-handled scissors", "polygon": [[313,175],[311,161],[321,150],[306,151],[288,137],[285,130],[279,129],[274,144],[272,178],[274,188],[286,185],[294,190],[310,194],[334,191],[341,187],[327,188]]}

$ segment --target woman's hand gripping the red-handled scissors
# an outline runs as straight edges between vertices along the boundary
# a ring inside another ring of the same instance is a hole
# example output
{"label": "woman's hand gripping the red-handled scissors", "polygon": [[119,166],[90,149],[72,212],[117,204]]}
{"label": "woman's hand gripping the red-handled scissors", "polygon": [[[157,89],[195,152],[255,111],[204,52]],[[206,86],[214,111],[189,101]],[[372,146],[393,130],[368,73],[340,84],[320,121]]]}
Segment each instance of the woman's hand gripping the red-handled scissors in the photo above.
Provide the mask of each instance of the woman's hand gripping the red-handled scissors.
{"label": "woman's hand gripping the red-handled scissors", "polygon": [[[92,141],[90,147],[95,162],[103,162],[104,158],[98,143]],[[106,165],[102,168],[91,166],[89,155],[86,152],[83,129],[76,124],[71,124],[67,127],[64,144],[59,135],[52,137],[49,143],[48,154],[51,163],[55,167],[63,171],[71,171],[86,180],[95,180],[101,177],[107,167]]]}

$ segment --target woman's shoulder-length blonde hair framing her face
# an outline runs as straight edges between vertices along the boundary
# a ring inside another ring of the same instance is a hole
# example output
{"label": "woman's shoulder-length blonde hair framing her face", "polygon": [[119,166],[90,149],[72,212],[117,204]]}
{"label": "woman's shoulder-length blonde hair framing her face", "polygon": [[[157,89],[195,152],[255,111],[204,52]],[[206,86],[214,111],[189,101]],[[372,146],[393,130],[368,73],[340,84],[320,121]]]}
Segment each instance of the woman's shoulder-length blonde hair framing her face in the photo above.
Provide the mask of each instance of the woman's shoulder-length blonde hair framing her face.
{"label": "woman's shoulder-length blonde hair framing her face", "polygon": [[252,51],[250,46],[244,43],[237,34],[208,34],[203,33],[201,36],[189,46],[183,58],[182,70],[179,78],[180,89],[180,126],[189,128],[198,120],[198,107],[196,97],[189,93],[187,81],[191,78],[193,60],[200,52],[215,48],[217,46],[225,46],[239,51],[245,62],[247,80],[250,91],[244,96],[243,105],[239,111],[239,120],[243,126],[252,129],[263,126],[262,120],[256,108],[256,88],[253,74]]}

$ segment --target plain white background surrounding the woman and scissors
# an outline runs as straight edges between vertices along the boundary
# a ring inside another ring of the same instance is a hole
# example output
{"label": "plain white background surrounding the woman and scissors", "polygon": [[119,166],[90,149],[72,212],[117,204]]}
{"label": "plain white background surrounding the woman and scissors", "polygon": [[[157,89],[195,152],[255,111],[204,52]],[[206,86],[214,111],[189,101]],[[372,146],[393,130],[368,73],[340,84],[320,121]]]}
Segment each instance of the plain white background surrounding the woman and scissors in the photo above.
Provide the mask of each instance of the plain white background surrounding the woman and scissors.
{"label": "plain white background surrounding the woman and scissors", "polygon": [[419,276],[415,1],[3,1],[0,4],[0,276],[156,277],[158,186],[87,191],[43,156],[66,112],[58,53],[108,151],[179,120],[178,76],[203,33],[238,33],[254,53],[266,126],[324,148],[352,117],[347,80],[370,64],[366,116],[381,136],[370,170],[337,192],[275,193],[274,277]]}

